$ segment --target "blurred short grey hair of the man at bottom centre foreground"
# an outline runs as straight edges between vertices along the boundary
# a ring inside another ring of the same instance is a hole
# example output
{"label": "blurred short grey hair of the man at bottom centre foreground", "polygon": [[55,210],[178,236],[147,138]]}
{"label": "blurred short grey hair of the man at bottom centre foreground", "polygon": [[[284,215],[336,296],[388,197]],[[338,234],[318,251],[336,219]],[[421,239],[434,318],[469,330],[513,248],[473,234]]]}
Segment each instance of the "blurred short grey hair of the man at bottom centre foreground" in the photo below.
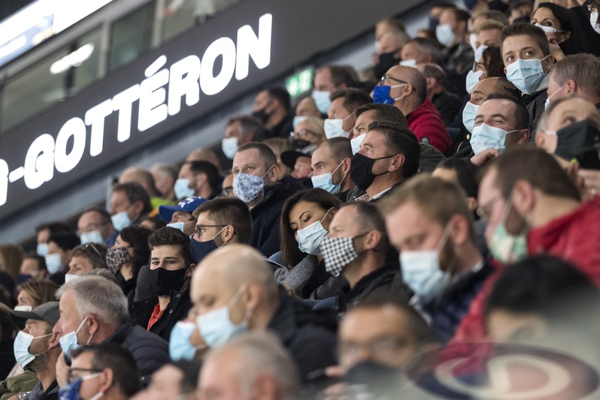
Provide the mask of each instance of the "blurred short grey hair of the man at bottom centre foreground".
{"label": "blurred short grey hair of the man at bottom centre foreground", "polygon": [[269,375],[278,386],[282,399],[291,398],[300,387],[298,368],[289,351],[273,333],[254,331],[233,337],[218,346],[205,359],[205,364],[223,353],[236,353],[238,359],[238,385],[243,395],[249,394],[252,386],[262,375]]}

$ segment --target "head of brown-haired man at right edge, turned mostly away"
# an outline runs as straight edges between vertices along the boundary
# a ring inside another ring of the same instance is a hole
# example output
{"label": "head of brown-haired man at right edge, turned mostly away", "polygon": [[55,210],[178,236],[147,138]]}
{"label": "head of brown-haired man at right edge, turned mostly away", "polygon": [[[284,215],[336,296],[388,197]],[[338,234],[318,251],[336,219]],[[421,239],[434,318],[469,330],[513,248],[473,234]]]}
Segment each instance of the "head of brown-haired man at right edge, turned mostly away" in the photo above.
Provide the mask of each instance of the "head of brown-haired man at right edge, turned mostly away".
{"label": "head of brown-haired man at right edge, turned mostly away", "polygon": [[579,97],[600,108],[600,60],[591,54],[566,56],[553,65],[548,81],[546,103]]}

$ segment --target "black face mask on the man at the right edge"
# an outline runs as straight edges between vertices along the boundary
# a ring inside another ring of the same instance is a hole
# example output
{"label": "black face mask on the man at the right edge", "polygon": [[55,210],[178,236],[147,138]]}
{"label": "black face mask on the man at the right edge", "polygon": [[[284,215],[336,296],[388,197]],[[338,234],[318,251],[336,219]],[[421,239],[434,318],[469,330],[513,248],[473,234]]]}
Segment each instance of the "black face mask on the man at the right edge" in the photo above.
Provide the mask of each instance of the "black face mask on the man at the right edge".
{"label": "black face mask on the man at the right edge", "polygon": [[555,154],[570,161],[577,159],[582,168],[600,169],[600,132],[588,120],[557,131]]}

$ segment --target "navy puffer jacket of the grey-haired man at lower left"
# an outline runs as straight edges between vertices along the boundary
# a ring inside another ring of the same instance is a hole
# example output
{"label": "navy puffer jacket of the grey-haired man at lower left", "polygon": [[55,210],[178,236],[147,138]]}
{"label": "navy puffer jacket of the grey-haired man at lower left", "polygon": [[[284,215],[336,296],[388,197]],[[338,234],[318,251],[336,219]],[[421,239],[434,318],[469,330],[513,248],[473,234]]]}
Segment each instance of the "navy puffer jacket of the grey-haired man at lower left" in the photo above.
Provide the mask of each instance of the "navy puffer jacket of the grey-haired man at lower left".
{"label": "navy puffer jacket of the grey-haired man at lower left", "polygon": [[154,371],[169,362],[168,342],[142,326],[122,324],[104,342],[119,344],[133,355],[144,388]]}

